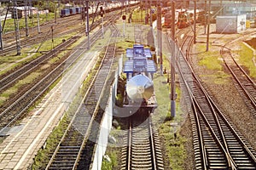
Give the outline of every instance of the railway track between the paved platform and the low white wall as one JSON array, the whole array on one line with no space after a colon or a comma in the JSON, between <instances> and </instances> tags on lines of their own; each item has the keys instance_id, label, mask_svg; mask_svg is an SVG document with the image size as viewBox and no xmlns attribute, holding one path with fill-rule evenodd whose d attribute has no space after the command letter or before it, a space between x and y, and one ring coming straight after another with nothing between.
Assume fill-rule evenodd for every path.
<instances>
[{"instance_id":1,"label":"railway track between the paved platform and the low white wall","mask_svg":"<svg viewBox=\"0 0 256 170\"><path fill-rule=\"evenodd\" d=\"M90 143L88 140L92 139L90 137L92 129L93 133L95 133L94 135L96 135L95 131L98 128L95 128L94 124L96 124L97 118L101 119L101 117L97 117L98 112L104 110L104 108L101 108L101 102L104 88L108 88L106 87L106 82L113 62L117 34L117 30L113 31L112 36L114 38L111 38L111 41L108 42L100 70L97 71L96 77L79 105L78 111L73 116L73 120L64 133L61 142L58 144L53 156L51 156L46 169L88 169L90 167L90 154L92 154L93 145L88 146L86 144ZM90 147L90 152L85 152L84 150L88 150L88 147ZM84 159L87 159L87 161L83 161Z\"/></svg>"}]
</instances>

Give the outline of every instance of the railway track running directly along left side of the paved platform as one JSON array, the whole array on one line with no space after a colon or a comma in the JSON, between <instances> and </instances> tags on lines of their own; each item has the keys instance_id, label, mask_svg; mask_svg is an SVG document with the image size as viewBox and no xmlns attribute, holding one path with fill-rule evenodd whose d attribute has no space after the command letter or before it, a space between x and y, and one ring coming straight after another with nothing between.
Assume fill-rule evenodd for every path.
<instances>
[{"instance_id":1,"label":"railway track running directly along left side of the paved platform","mask_svg":"<svg viewBox=\"0 0 256 170\"><path fill-rule=\"evenodd\" d=\"M116 20L117 16L119 15L115 15L112 20ZM101 36L102 31L96 31L96 33L91 37L90 44L96 42L96 40ZM61 77L61 75L67 71L69 66L73 65L73 63L79 59L79 56L86 50L80 50L84 47L84 44L87 44L87 40L80 43L78 49L76 49L68 58L55 64L54 67L51 67L51 70L48 71L38 82L35 82L35 84L31 84L31 86L22 89L23 93L20 92L20 95L17 94L15 98L9 101L9 103L3 105L0 112L0 133L3 133L4 130L8 129L8 127L14 124L18 118L22 117L26 110L33 105L33 103L42 94L44 94L47 89L49 89L49 86L53 84L59 77Z\"/></svg>"}]
</instances>

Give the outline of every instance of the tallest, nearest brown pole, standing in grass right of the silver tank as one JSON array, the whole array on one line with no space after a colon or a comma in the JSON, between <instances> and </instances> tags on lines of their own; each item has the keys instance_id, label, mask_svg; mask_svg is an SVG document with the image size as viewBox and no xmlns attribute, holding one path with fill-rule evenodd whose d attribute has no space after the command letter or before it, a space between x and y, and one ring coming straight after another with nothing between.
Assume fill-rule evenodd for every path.
<instances>
[{"instance_id":1,"label":"tallest, nearest brown pole, standing in grass right of the silver tank","mask_svg":"<svg viewBox=\"0 0 256 170\"><path fill-rule=\"evenodd\" d=\"M172 1L172 54L171 54L171 116L175 117L176 112L176 90L175 90L175 2Z\"/></svg>"}]
</instances>

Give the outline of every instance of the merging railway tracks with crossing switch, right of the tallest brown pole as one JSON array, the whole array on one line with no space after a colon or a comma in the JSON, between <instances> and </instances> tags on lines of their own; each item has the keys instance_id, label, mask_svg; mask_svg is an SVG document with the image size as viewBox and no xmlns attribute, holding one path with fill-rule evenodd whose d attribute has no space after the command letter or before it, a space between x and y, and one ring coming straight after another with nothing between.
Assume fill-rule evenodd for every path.
<instances>
[{"instance_id":1,"label":"merging railway tracks with crossing switch, right of the tallest brown pole","mask_svg":"<svg viewBox=\"0 0 256 170\"><path fill-rule=\"evenodd\" d=\"M255 169L255 150L218 109L183 55L177 68L181 86L189 94L187 102L191 104L195 168Z\"/></svg>"}]
</instances>

